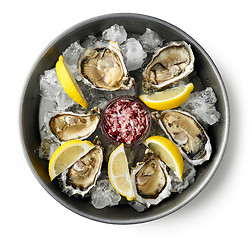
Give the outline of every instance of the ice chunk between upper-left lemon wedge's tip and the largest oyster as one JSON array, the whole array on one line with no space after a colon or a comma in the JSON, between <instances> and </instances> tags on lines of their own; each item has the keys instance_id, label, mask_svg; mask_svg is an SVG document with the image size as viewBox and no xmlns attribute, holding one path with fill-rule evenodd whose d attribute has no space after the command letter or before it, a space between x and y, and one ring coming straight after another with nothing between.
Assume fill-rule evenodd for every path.
<instances>
[{"instance_id":1,"label":"ice chunk between upper-left lemon wedge's tip and the largest oyster","mask_svg":"<svg viewBox=\"0 0 252 240\"><path fill-rule=\"evenodd\" d=\"M72 43L64 52L63 57L68 65L76 65L80 54L83 51L83 47L80 45L79 41Z\"/></svg>"}]
</instances>

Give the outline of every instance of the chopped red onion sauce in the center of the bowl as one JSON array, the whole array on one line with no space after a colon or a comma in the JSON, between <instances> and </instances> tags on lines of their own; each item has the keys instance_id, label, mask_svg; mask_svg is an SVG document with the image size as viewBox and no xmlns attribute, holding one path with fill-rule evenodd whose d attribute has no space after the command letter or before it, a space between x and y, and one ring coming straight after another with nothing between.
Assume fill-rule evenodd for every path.
<instances>
[{"instance_id":1,"label":"chopped red onion sauce in the center of the bowl","mask_svg":"<svg viewBox=\"0 0 252 240\"><path fill-rule=\"evenodd\" d=\"M148 125L147 112L134 100L119 99L105 110L104 127L117 142L134 143L144 134Z\"/></svg>"}]
</instances>

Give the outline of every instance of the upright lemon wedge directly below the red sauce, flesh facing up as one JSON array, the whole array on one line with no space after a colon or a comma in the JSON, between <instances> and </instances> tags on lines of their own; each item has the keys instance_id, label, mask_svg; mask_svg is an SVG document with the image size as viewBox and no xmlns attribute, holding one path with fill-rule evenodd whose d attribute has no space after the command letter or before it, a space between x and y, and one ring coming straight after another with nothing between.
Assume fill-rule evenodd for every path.
<instances>
[{"instance_id":1,"label":"upright lemon wedge directly below the red sauce, flesh facing up","mask_svg":"<svg viewBox=\"0 0 252 240\"><path fill-rule=\"evenodd\" d=\"M123 143L109 157L108 176L112 186L118 193L125 196L128 201L135 198Z\"/></svg>"}]
</instances>

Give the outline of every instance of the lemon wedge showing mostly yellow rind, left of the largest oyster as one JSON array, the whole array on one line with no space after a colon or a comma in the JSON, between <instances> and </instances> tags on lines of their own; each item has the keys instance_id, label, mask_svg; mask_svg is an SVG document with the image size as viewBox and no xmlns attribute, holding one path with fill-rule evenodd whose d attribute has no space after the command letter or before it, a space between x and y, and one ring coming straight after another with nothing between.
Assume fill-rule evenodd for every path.
<instances>
[{"instance_id":1,"label":"lemon wedge showing mostly yellow rind, left of the largest oyster","mask_svg":"<svg viewBox=\"0 0 252 240\"><path fill-rule=\"evenodd\" d=\"M74 78L73 73L71 72L67 63L64 61L62 55L59 56L59 60L56 63L56 73L61 86L68 94L68 96L75 102L79 103L82 107L87 108L88 103L86 102L84 95Z\"/></svg>"}]
</instances>

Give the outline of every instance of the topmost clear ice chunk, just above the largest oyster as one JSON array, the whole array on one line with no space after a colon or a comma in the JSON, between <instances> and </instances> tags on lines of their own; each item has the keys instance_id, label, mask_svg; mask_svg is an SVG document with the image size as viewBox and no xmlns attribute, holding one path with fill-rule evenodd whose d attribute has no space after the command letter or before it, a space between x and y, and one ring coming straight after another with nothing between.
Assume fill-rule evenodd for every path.
<instances>
[{"instance_id":1,"label":"topmost clear ice chunk, just above the largest oyster","mask_svg":"<svg viewBox=\"0 0 252 240\"><path fill-rule=\"evenodd\" d=\"M104 40L113 40L120 45L126 41L127 32L123 26L119 26L118 24L114 24L110 28L103 31L102 38Z\"/></svg>"}]
</instances>

